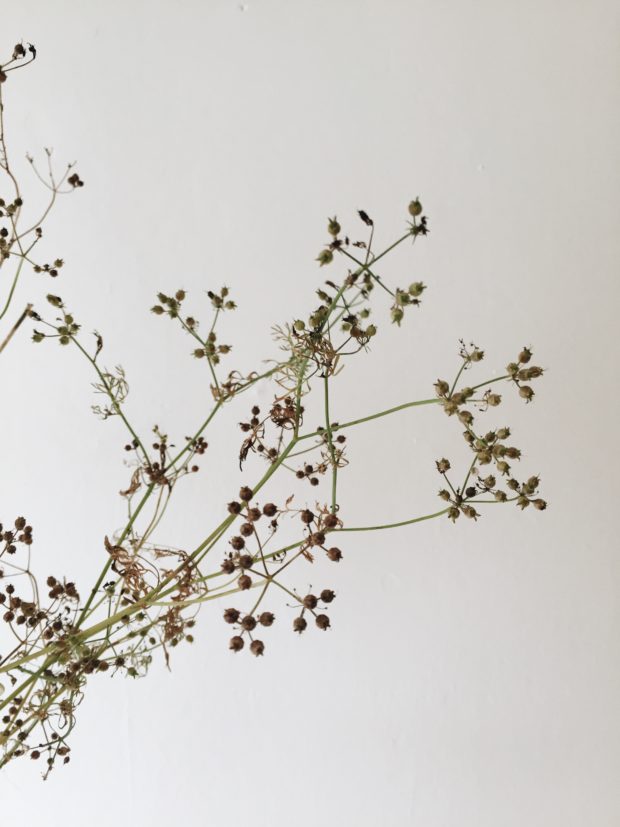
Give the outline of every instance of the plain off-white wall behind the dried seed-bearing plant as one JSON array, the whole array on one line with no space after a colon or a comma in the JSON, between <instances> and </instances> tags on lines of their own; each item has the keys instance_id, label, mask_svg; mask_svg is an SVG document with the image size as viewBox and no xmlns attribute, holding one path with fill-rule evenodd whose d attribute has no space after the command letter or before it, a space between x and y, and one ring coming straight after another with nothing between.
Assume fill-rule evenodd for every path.
<instances>
[{"instance_id":1,"label":"plain off-white wall behind the dried seed-bearing plant","mask_svg":"<svg viewBox=\"0 0 620 827\"><path fill-rule=\"evenodd\" d=\"M366 209L387 243L419 195L431 235L383 275L424 280L424 306L400 331L378 318L335 416L430 395L459 337L485 347L481 380L531 344L547 368L535 403L507 392L497 424L550 507L347 538L340 567L292 580L334 585L333 629L293 638L276 607L260 661L230 654L219 609L205 611L171 673L92 681L72 763L46 783L31 763L6 770L3 819L619 823L619 29L605 0L4 9L2 53L39 49L6 86L16 164L27 176L26 150L51 145L87 183L49 222L62 279L29 276L18 305L53 286L102 331L143 431L182 438L209 397L188 340L149 315L157 290L184 287L198 313L200 291L229 284L240 310L223 340L231 367L251 369L274 354L270 326L314 303L326 216L354 227ZM90 382L76 353L25 332L3 354L2 518L26 513L42 570L64 566L84 590L127 482L124 434L90 413ZM238 485L238 434L218 438L162 540L195 545ZM435 510L434 459L467 461L434 409L350 443L350 523Z\"/></svg>"}]
</instances>

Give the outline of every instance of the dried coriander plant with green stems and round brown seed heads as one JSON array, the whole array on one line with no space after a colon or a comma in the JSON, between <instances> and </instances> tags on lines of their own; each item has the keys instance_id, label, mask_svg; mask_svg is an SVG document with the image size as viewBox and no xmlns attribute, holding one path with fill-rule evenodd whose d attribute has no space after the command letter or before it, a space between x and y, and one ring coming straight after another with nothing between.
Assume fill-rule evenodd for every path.
<instances>
[{"instance_id":1,"label":"dried coriander plant with green stems and round brown seed heads","mask_svg":"<svg viewBox=\"0 0 620 827\"><path fill-rule=\"evenodd\" d=\"M82 186L71 164L62 176L55 175L49 151L45 175L29 158L49 200L38 218L25 220L5 144L2 93L11 73L35 57L33 46L18 44L0 66L0 276L9 272L0 322L8 318L24 269L58 276L61 258L38 258L42 225L60 194ZM508 385L526 403L532 401L531 382L543 370L532 365L529 348L523 348L502 375L485 380L484 373L478 375L484 352L461 342L456 375L452 381L439 379L430 398L404 401L351 422L335 419L330 388L342 366L363 356L378 335L379 325L371 321L373 304L382 304L379 314L400 325L412 308L420 306L426 290L422 282L393 288L377 271L396 247L428 233L420 201L409 204L404 231L379 252L373 246L373 220L364 211L359 217L365 237L356 241L343 233L336 218L328 221L319 266L344 267L317 290L318 304L306 318L274 328L281 356L268 363L267 370L244 373L223 368L231 346L220 341L219 323L236 309L228 288L208 291L209 317L202 324L186 310L183 289L157 294L152 312L168 317L191 338L193 357L204 363L213 394L210 412L180 448L157 427L148 439L137 432L124 409L128 384L123 369L103 366L102 336L84 336L60 296L47 296L46 312L26 305L13 325L7 325L0 350L31 319L34 342L56 341L89 362L98 397L93 411L102 419L116 418L125 429L131 474L121 492L127 502L126 525L101 538L100 570L85 591L55 570L43 582L37 580L31 566L33 529L24 516L11 517L0 526L0 766L26 756L43 762L46 776L59 761L67 763L69 736L89 677L99 672L140 677L158 654L168 663L172 649L193 642L203 603L221 601L233 652L263 655L264 638L276 622L299 634L311 627L328 629L334 591L326 587L304 594L291 580L317 555L339 563L341 547L350 542L348 534L439 518L476 520L494 503L546 507L538 496L538 477L522 481L515 476L521 452L510 442L510 429L482 424L484 415L502 402L496 390L500 385ZM208 451L205 434L210 424L227 414L238 417L243 404L237 403L238 397L258 383L270 383L273 401L265 410L251 407L240 423L235 461L247 470L247 484L222 503L220 521L195 548L162 544L157 539L159 522L179 481L198 471L198 458ZM311 393L322 398L320 424L309 425L304 418ZM450 461L441 458L436 466L442 503L436 511L393 524L349 525L338 504L340 472L352 461L347 432L421 405L437 406L462 429L471 453L458 470L460 476L455 478ZM269 498L268 484L275 474L291 480L291 494L284 502Z\"/></svg>"}]
</instances>

